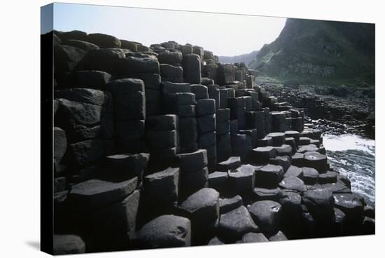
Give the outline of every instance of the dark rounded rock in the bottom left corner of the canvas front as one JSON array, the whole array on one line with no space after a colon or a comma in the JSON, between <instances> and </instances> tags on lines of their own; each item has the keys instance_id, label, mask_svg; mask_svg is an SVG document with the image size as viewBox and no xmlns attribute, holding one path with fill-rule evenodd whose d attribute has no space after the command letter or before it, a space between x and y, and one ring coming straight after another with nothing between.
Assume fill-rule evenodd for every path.
<instances>
[{"instance_id":1,"label":"dark rounded rock in the bottom left corner of the canvas front","mask_svg":"<svg viewBox=\"0 0 385 258\"><path fill-rule=\"evenodd\" d=\"M80 236L75 235L53 235L54 255L59 254L81 254L85 252L85 243Z\"/></svg>"}]
</instances>

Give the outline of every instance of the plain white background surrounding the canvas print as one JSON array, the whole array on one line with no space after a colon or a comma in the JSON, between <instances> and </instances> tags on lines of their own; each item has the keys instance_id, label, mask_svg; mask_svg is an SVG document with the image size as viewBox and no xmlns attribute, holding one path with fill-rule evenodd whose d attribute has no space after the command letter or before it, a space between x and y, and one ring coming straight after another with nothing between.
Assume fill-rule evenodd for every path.
<instances>
[{"instance_id":1,"label":"plain white background surrounding the canvas print","mask_svg":"<svg viewBox=\"0 0 385 258\"><path fill-rule=\"evenodd\" d=\"M71 2L71 1L62 1ZM384 6L381 1L137 0L76 1L188 11L345 20L376 23L376 236L293 240L284 243L186 247L156 251L110 252L76 257L367 257L384 248ZM40 238L40 6L49 1L1 3L0 257L48 257ZM161 21L160 21L161 22ZM253 33L253 26L250 33ZM236 28L234 28L236 29ZM382 32L382 35L381 35ZM188 32L183 32L188 33ZM172 39L170 39L172 40ZM381 46L382 42L382 46ZM382 47L382 49L380 48ZM49 90L49 89L46 89ZM380 133L381 132L381 133ZM47 171L50 173L51 171ZM382 182L382 183L381 183ZM382 239L382 241L381 241ZM381 256L384 254L380 254ZM73 256L75 257L75 256Z\"/></svg>"}]
</instances>

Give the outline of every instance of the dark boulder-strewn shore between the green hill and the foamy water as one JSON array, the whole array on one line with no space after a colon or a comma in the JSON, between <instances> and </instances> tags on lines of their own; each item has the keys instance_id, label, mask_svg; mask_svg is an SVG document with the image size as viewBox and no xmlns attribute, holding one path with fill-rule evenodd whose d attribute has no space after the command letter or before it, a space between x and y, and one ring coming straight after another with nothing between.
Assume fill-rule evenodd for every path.
<instances>
[{"instance_id":1,"label":"dark boulder-strewn shore between the green hill and the foamy water","mask_svg":"<svg viewBox=\"0 0 385 258\"><path fill-rule=\"evenodd\" d=\"M307 122L316 121L314 128L323 132L375 137L374 90L290 83L260 83L260 86L280 101L290 102L293 107L304 107Z\"/></svg>"}]
</instances>

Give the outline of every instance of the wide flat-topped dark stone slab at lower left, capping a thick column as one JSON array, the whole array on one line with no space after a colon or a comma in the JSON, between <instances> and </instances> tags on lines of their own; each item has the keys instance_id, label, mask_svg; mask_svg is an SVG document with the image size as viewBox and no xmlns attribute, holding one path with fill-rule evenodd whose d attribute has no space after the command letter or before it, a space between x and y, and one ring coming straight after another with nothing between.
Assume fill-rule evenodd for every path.
<instances>
[{"instance_id":1,"label":"wide flat-topped dark stone slab at lower left, capping a thick column","mask_svg":"<svg viewBox=\"0 0 385 258\"><path fill-rule=\"evenodd\" d=\"M123 182L90 179L72 186L69 201L74 207L97 208L129 196L137 188L137 177Z\"/></svg>"}]
</instances>

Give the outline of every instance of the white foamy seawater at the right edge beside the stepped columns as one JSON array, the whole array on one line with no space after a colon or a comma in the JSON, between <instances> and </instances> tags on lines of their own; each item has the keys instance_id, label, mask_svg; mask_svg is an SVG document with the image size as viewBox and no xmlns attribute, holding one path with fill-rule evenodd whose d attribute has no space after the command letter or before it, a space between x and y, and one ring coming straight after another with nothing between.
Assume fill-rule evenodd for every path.
<instances>
[{"instance_id":1,"label":"white foamy seawater at the right edge beside the stepped columns","mask_svg":"<svg viewBox=\"0 0 385 258\"><path fill-rule=\"evenodd\" d=\"M358 135L323 135L323 146L335 170L348 175L351 190L375 202L375 143Z\"/></svg>"}]
</instances>

